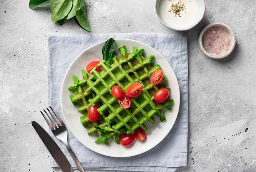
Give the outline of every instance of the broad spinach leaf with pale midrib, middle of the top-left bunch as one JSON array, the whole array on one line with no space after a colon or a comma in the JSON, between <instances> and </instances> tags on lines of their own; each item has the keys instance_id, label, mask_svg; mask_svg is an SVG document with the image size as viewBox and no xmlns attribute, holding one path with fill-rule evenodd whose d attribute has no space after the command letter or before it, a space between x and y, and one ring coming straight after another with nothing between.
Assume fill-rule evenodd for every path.
<instances>
[{"instance_id":1,"label":"broad spinach leaf with pale midrib, middle of the top-left bunch","mask_svg":"<svg viewBox=\"0 0 256 172\"><path fill-rule=\"evenodd\" d=\"M51 21L57 22L68 15L72 8L72 0L51 0Z\"/></svg>"}]
</instances>

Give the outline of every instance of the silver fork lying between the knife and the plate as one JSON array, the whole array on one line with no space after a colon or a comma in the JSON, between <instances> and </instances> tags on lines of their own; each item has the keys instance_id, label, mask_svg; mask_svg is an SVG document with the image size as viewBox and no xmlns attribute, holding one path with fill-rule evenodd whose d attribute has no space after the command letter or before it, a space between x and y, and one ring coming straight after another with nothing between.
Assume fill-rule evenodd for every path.
<instances>
[{"instance_id":1,"label":"silver fork lying between the knife and the plate","mask_svg":"<svg viewBox=\"0 0 256 172\"><path fill-rule=\"evenodd\" d=\"M48 112L45 111L45 109L43 111L48 116L50 121L47 119L47 117L45 116L45 114L42 111L40 111L40 112L42 113L43 117L45 118L45 121L47 122L50 129L52 130L52 133L55 135L55 137L57 139L61 140L65 144L65 146L67 147L67 150L70 152L71 157L74 159L74 162L76 163L76 166L79 169L79 171L85 172L81 163L78 161L78 159L76 158L76 155L71 150L71 148L67 142L68 133L67 133L67 128L66 128L65 124L63 123L63 121L61 120L59 115L56 113L56 111L54 111L54 109L52 109L52 107L50 107L50 109L52 110L53 113L48 108L46 108L46 109Z\"/></svg>"}]
</instances>

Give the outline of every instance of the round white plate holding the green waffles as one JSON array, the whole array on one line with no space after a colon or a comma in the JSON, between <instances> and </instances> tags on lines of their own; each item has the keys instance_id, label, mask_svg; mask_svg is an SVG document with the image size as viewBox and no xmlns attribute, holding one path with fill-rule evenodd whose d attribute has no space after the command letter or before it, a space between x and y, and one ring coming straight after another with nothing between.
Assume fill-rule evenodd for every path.
<instances>
[{"instance_id":1,"label":"round white plate holding the green waffles","mask_svg":"<svg viewBox=\"0 0 256 172\"><path fill-rule=\"evenodd\" d=\"M84 146L90 150L93 150L94 152L98 152L99 154L109 157L131 157L144 153L155 147L171 131L180 108L180 89L173 69L164 59L164 57L155 49L146 44L130 39L115 39L115 41L116 53L119 52L118 47L121 45L125 45L128 52L132 52L132 46L136 46L138 49L144 48L144 57L149 57L151 54L153 54L155 56L153 63L159 64L162 67L164 74L168 78L168 83L166 83L165 87L171 88L169 98L174 100L174 103L172 104L172 111L164 109L166 122L160 122L159 118L157 117L154 118L156 123L155 125L152 125L150 122L146 122L145 124L148 128L146 139L143 142L135 140L134 144L128 147L124 147L121 144L116 144L112 139L110 139L109 145L105 145L104 143L95 144L95 141L98 139L98 135L93 134L89 136L87 134L88 128L84 128L80 123L80 116L82 114L77 111L78 107L72 105L69 98L69 95L74 93L73 91L69 91L67 88L73 84L72 74L81 79L81 69L85 69L86 65L91 61L102 60L101 50L105 41L95 44L83 51L78 57L76 57L68 68L61 87L61 109L68 128L70 128L73 135Z\"/></svg>"}]
</instances>

